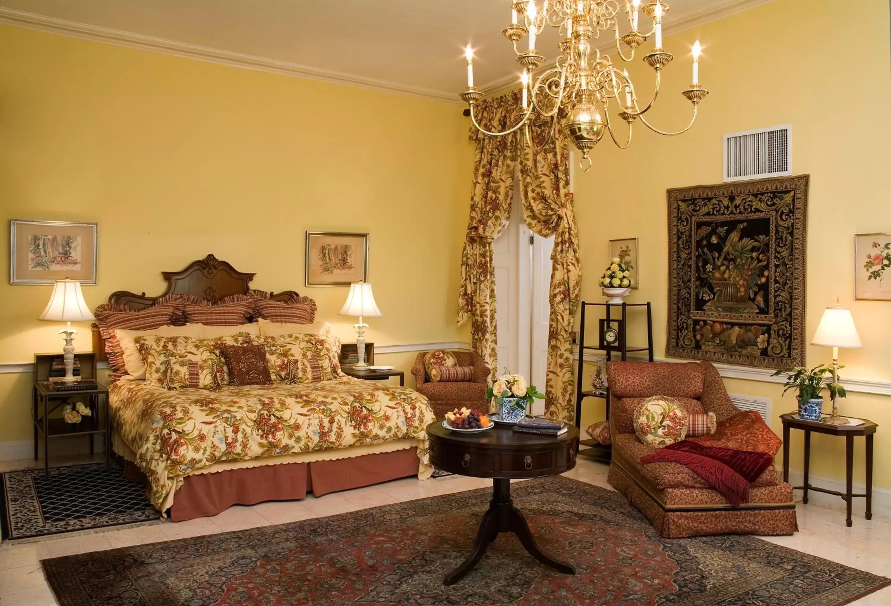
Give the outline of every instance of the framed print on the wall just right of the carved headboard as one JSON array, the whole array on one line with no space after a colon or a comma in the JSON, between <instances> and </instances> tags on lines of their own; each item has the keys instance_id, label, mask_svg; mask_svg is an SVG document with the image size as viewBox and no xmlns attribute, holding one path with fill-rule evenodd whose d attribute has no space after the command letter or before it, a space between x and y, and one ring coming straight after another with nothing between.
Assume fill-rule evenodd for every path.
<instances>
[{"instance_id":1,"label":"framed print on the wall just right of the carved headboard","mask_svg":"<svg viewBox=\"0 0 891 606\"><path fill-rule=\"evenodd\" d=\"M307 287L368 281L368 234L307 231Z\"/></svg>"}]
</instances>

